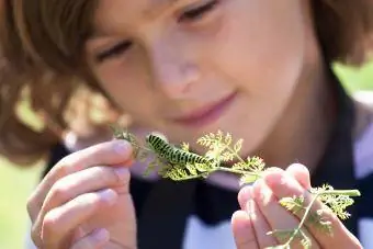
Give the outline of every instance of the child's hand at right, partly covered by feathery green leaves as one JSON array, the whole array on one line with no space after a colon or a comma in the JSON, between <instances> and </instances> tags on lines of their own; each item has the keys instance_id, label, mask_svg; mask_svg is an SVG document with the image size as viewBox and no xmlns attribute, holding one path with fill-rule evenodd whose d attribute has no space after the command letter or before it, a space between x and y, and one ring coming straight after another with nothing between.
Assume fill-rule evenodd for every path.
<instances>
[{"instance_id":1,"label":"child's hand at right, partly covered by feathery green leaves","mask_svg":"<svg viewBox=\"0 0 373 249\"><path fill-rule=\"evenodd\" d=\"M310 189L309 172L302 165L292 165L286 171L271 168L252 186L242 188L238 194L241 210L235 212L231 219L237 248L265 248L285 242L267 233L294 229L302 217L286 211L278 201L294 195L304 195L305 200L309 201L312 196L307 189ZM313 211L321 208L321 205L320 202L315 202ZM306 223L304 228L312 240L312 248L362 248L335 214L325 212L323 215L331 222L334 236L324 234ZM291 246L302 248L298 245L299 240L294 240Z\"/></svg>"}]
</instances>

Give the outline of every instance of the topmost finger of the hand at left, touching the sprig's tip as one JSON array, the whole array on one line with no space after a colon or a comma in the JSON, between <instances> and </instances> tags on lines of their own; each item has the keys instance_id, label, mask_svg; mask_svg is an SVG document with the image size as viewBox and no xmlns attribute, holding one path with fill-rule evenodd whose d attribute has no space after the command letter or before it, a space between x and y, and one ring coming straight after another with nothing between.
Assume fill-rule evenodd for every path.
<instances>
[{"instance_id":1,"label":"topmost finger of the hand at left, touching the sprig's tip","mask_svg":"<svg viewBox=\"0 0 373 249\"><path fill-rule=\"evenodd\" d=\"M125 140L112 140L79 150L61 159L45 176L27 200L27 212L32 222L35 220L45 196L58 179L92 166L129 165L132 161L132 151L129 143Z\"/></svg>"}]
</instances>

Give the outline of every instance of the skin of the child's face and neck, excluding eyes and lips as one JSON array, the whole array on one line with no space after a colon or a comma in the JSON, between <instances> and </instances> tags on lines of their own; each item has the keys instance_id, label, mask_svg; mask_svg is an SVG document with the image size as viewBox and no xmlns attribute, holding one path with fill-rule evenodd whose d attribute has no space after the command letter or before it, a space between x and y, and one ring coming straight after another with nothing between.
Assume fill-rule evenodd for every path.
<instances>
[{"instance_id":1,"label":"skin of the child's face and neck, excluding eyes and lips","mask_svg":"<svg viewBox=\"0 0 373 249\"><path fill-rule=\"evenodd\" d=\"M147 2L101 1L97 36L87 43L91 68L118 106L170 140L194 144L221 128L245 139L244 154L260 151L271 165L285 167L294 158L313 163L318 152L303 152L313 142L299 143L313 139L304 131L326 133L326 124L308 121L324 118L317 105L327 98L304 1L223 0L200 19L183 13L211 1L179 1L151 14ZM125 41L129 48L97 63L99 54ZM203 127L173 122L236 90L237 100L216 122ZM302 99L293 98L297 94ZM324 142L317 145L323 149Z\"/></svg>"}]
</instances>

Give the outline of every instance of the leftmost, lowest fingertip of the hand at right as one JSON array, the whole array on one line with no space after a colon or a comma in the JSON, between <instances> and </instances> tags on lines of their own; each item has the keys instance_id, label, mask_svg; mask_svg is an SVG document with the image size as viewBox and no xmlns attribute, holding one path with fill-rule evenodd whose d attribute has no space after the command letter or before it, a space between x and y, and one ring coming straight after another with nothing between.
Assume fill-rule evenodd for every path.
<instances>
[{"instance_id":1,"label":"leftmost, lowest fingertip of the hand at right","mask_svg":"<svg viewBox=\"0 0 373 249\"><path fill-rule=\"evenodd\" d=\"M231 216L231 228L237 249L259 249L256 231L250 216L245 211L237 211Z\"/></svg>"}]
</instances>

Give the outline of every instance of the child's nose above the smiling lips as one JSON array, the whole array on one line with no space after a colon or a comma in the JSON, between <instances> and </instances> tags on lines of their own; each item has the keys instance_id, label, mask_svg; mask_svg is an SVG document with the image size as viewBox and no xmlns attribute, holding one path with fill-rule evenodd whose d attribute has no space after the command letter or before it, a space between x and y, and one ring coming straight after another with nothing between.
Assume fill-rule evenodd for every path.
<instances>
[{"instance_id":1,"label":"child's nose above the smiling lips","mask_svg":"<svg viewBox=\"0 0 373 249\"><path fill-rule=\"evenodd\" d=\"M185 50L165 42L158 42L150 48L152 82L171 99L185 98L200 78L196 63Z\"/></svg>"}]
</instances>

